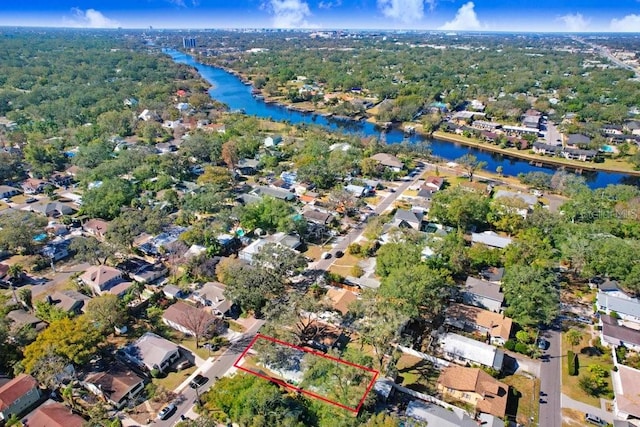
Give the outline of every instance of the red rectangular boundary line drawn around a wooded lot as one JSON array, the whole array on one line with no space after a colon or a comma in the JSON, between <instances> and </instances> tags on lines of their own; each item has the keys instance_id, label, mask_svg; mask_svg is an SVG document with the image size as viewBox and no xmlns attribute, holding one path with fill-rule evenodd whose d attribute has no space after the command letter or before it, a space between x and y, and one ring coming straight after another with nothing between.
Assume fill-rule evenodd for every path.
<instances>
[{"instance_id":1,"label":"red rectangular boundary line drawn around a wooded lot","mask_svg":"<svg viewBox=\"0 0 640 427\"><path fill-rule=\"evenodd\" d=\"M242 359L244 359L244 357L246 356L247 352L249 352L249 350L251 349L251 347L253 347L253 345L254 345L254 344L256 343L256 341L258 341L259 339L265 339L265 340L267 340L267 341L271 341L271 342L274 342L274 343L276 343L276 344L280 344L280 345L283 345L283 346L286 346L286 347L294 348L294 349L296 349L296 350L300 350L300 351L303 351L303 352L305 352L305 353L311 353L311 354L313 354L313 355L315 355L315 356L319 356L319 357L323 357L323 358L325 358L325 359L333 360L333 361L335 361L335 362L339 362L339 363L345 364L345 365L347 365L347 366L351 366L351 367L354 367L354 368L362 369L363 371L367 371L367 372L369 372L369 373L372 373L372 374L373 374L373 378L371 379L371 382L370 382L370 383L369 383L369 385L367 386L367 390L365 391L364 396L362 396L362 399L360 399L360 401L358 402L358 405L357 405L355 408L354 408L354 407L351 407L351 406L343 405L343 404L342 404L342 403L340 403L340 402L335 402L335 401L333 401L333 400L331 400L331 399L328 399L328 398L326 398L326 397L324 397L324 396L321 396L321 395L319 395L319 394L317 394L317 393L314 393L314 392L312 392L312 391L309 391L309 390L303 390L303 389L301 389L300 387L296 387L296 386L294 386L294 385L292 385L292 384L289 384L289 383L287 383L287 382L285 382L285 381L279 380L279 379L277 379L277 378L271 378L271 377L270 377L270 376L268 376L268 375L264 375L264 374L261 374L261 373L259 373L259 372L255 372L255 371L252 371L251 369L247 369L247 368L245 368L245 367L243 367L243 366L240 366L240 361L241 361ZM240 369L241 371L244 371L244 372L248 373L248 374L251 374L251 375L254 375L254 376L256 376L256 377L259 377L259 378L265 379L265 380L267 380L267 381L271 381L271 382L273 382L273 383L275 383L275 384L278 384L278 385L280 385L280 386L282 386L282 387L285 387L285 388L288 388L288 389L294 390L294 391L296 391L296 392L298 392L298 393L306 394L307 396L313 397L313 398L315 398L315 399L321 400L321 401L323 401L323 402L329 403L329 404L334 405L334 406L337 406L337 407L339 407L339 408L346 409L347 411L351 411L351 412L354 412L354 413L356 413L356 414L357 414L358 412L360 412L360 408L362 407L362 405L363 405L363 403L364 403L364 400L366 399L367 395L369 394L369 392L370 392L370 391L371 391L371 389L373 388L373 385L375 384L376 379L378 379L378 375L380 375L380 373L379 373L378 371L376 371L376 370L374 370L374 369L371 369L371 368L367 368L366 366L358 365L358 364L356 364L356 363L347 362L346 360L338 359L337 357L329 356L329 355L327 355L327 354L320 353L320 352L315 351L315 350L306 349L306 348L304 348L304 347L300 347L300 346L297 346L297 345L293 345L293 344L288 343L288 342L286 342L286 341L281 341L281 340L278 340L278 339L276 339L276 338L269 337L269 336L267 336L267 335L262 335L262 334L257 334L257 335L253 338L253 340L251 340L251 342L249 343L249 345L247 346L247 348L245 348L245 349L244 349L244 351L242 352L242 354L240 355L240 357L238 357L238 360L236 360L236 361L235 361L235 363L233 364L233 366L234 366L235 368L237 368L237 369Z\"/></svg>"}]
</instances>

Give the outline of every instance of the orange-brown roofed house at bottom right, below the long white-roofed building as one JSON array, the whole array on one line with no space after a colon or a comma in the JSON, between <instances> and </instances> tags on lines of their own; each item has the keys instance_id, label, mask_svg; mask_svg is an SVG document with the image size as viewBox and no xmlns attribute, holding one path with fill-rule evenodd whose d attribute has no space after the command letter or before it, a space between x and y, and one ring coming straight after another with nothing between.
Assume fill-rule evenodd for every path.
<instances>
[{"instance_id":1,"label":"orange-brown roofed house at bottom right, below the long white-roofed building","mask_svg":"<svg viewBox=\"0 0 640 427\"><path fill-rule=\"evenodd\" d=\"M440 374L437 388L443 396L468 403L478 412L505 416L509 386L480 368L449 366Z\"/></svg>"}]
</instances>

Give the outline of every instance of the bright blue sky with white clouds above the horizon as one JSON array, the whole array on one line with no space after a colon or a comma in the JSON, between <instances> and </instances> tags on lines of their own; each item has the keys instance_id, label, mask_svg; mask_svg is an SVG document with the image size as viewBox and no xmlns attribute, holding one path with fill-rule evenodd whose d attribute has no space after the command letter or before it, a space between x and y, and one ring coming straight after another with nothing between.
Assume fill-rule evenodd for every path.
<instances>
[{"instance_id":1,"label":"bright blue sky with white clouds above the horizon","mask_svg":"<svg viewBox=\"0 0 640 427\"><path fill-rule=\"evenodd\" d=\"M640 32L640 0L2 0L0 25Z\"/></svg>"}]
</instances>

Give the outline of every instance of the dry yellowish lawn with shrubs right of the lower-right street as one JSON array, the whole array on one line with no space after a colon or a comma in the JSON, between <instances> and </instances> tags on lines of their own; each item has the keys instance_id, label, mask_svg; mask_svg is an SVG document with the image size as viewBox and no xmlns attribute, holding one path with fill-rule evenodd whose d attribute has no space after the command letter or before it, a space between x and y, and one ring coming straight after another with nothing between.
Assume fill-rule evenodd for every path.
<instances>
[{"instance_id":1,"label":"dry yellowish lawn with shrubs right of the lower-right street","mask_svg":"<svg viewBox=\"0 0 640 427\"><path fill-rule=\"evenodd\" d=\"M578 385L578 381L581 376L589 373L588 369L590 365L601 365L607 372L611 372L611 369L613 369L613 360L608 349L604 354L600 354L599 351L591 345L591 334L586 330L583 332L582 342L573 349L574 353L578 355L579 371L577 376L569 375L567 358L562 358L562 392L574 400L600 407L600 397L593 397L586 394ZM567 342L566 336L563 333L562 351L565 356L568 350L571 350L571 345ZM607 378L607 387L609 390L613 390L611 375ZM602 397L607 398L606 395Z\"/></svg>"}]
</instances>

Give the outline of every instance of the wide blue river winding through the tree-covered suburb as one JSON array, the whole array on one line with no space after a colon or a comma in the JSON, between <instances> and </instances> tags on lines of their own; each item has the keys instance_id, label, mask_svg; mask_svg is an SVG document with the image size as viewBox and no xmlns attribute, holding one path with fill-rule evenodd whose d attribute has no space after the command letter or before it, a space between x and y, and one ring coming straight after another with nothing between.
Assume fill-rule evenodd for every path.
<instances>
[{"instance_id":1,"label":"wide blue river winding through the tree-covered suburb","mask_svg":"<svg viewBox=\"0 0 640 427\"><path fill-rule=\"evenodd\" d=\"M163 52L178 63L196 67L200 75L213 86L209 90L211 97L227 104L231 110L243 110L249 115L274 121L288 121L291 124L306 123L309 125L321 125L332 130L340 130L342 132L355 133L363 136L379 137L381 134L380 128L364 120L354 121L327 118L313 113L292 111L275 104L267 104L262 99L253 97L251 95L251 86L245 85L235 75L221 68L197 62L192 56L175 49L163 49ZM384 138L387 143L398 143L406 139L404 133L398 129L385 131ZM468 147L454 142L425 138L421 135L412 135L409 137L409 140L411 142L427 141L434 155L447 160L455 160L469 153L473 154L479 160L487 163L486 169L488 171L495 172L498 166L502 166L503 174L509 176L517 176L520 173L534 171L555 172L554 168L533 166L529 164L528 160L483 151L475 147ZM583 176L591 188L606 187L609 184L640 184L638 177L623 173L585 171Z\"/></svg>"}]
</instances>

